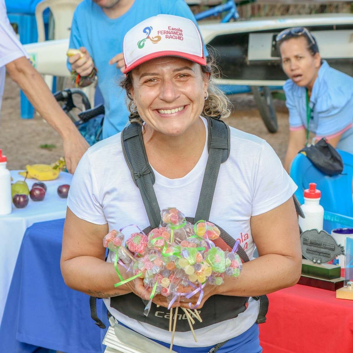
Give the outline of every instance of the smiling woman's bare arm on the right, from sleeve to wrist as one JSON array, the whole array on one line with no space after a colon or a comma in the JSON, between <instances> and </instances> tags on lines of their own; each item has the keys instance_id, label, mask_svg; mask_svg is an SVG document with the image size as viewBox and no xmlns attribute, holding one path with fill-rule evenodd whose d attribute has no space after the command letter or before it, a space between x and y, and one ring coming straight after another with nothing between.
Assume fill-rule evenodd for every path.
<instances>
[{"instance_id":1,"label":"smiling woman's bare arm on the right, from sleeve to wrist","mask_svg":"<svg viewBox=\"0 0 353 353\"><path fill-rule=\"evenodd\" d=\"M256 296L293 286L301 273L301 250L293 199L253 216L251 233L259 257L243 264L239 277L227 277L223 295Z\"/></svg>"}]
</instances>

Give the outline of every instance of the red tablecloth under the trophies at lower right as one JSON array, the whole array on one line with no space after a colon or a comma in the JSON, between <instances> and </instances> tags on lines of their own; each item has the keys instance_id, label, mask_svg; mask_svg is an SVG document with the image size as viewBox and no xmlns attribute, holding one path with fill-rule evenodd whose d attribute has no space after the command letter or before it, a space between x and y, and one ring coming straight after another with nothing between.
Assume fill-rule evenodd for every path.
<instances>
[{"instance_id":1,"label":"red tablecloth under the trophies at lower right","mask_svg":"<svg viewBox=\"0 0 353 353\"><path fill-rule=\"evenodd\" d=\"M353 300L295 285L268 295L263 353L353 353Z\"/></svg>"}]
</instances>

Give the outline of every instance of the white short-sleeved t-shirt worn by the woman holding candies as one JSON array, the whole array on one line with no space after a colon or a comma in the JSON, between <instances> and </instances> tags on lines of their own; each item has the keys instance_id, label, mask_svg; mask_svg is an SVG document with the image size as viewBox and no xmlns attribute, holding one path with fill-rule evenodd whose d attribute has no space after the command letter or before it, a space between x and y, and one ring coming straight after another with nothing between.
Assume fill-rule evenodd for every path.
<instances>
[{"instance_id":1,"label":"white short-sleeved t-shirt worn by the woman holding candies","mask_svg":"<svg viewBox=\"0 0 353 353\"><path fill-rule=\"evenodd\" d=\"M206 127L207 121L202 120ZM281 205L292 197L297 186L265 140L232 127L230 131L230 155L221 164L210 221L239 239L252 259L254 243L250 217ZM160 209L176 207L185 216L195 215L207 157L206 138L199 161L185 177L168 179L154 170L154 190ZM72 179L67 206L80 219L95 224L108 223L109 231L129 224L141 229L149 226L139 189L124 159L120 133L95 144L84 154ZM125 234L125 239L128 235ZM110 299L103 300L118 321L147 337L170 343L168 331L122 315L110 307ZM250 299L248 308L237 318L195 330L197 343L191 332L176 332L174 344L206 347L223 342L249 329L258 311L258 302Z\"/></svg>"}]
</instances>

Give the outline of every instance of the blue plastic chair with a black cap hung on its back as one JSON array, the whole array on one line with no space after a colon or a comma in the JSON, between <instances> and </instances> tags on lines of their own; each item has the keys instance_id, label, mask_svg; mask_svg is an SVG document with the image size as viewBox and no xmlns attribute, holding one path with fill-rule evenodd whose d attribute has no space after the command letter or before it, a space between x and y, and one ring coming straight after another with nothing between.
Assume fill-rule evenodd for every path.
<instances>
[{"instance_id":1,"label":"blue plastic chair with a black cap hung on its back","mask_svg":"<svg viewBox=\"0 0 353 353\"><path fill-rule=\"evenodd\" d=\"M316 183L321 191L320 204L325 210L324 229L331 232L334 228L353 228L353 155L337 150L343 160L343 172L330 177L321 173L313 166L309 158L299 153L291 166L291 178L297 184L295 196L300 204L304 203L304 190L309 188L309 183Z\"/></svg>"}]
</instances>

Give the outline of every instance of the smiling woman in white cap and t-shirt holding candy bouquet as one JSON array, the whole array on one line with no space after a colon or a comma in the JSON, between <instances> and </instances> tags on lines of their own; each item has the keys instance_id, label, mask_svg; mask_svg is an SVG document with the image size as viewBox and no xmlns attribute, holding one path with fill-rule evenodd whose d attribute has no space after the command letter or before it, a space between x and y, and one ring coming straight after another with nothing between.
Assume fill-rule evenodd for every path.
<instances>
[{"instance_id":1,"label":"smiling woman in white cap and t-shirt holding candy bouquet","mask_svg":"<svg viewBox=\"0 0 353 353\"><path fill-rule=\"evenodd\" d=\"M183 40L162 34L169 27ZM138 40L142 34L147 36ZM136 25L124 38L124 60L121 85L131 125L92 146L74 174L61 256L65 282L104 298L105 322L108 310L119 323L168 346L167 298L152 296L145 317L140 299L150 298L149 289L139 277L114 287L117 274L110 256L104 262L103 238L129 224L158 227L158 211L168 207L198 217L201 205L208 211L199 219L218 224L233 243L240 238L245 261L252 260L255 244L260 256L245 262L238 277L225 276L220 286L205 283L203 295L173 304L197 306L203 320L195 325L195 342L180 315L173 349L207 353L226 342L227 352L260 353L258 323L266 310L259 310L257 297L292 286L300 276L296 186L264 140L220 121L229 115L229 102L213 84L214 70L190 20L158 15ZM145 164L130 170L131 160ZM151 208L157 209L152 216Z\"/></svg>"}]
</instances>

